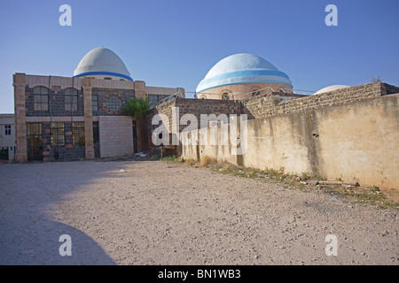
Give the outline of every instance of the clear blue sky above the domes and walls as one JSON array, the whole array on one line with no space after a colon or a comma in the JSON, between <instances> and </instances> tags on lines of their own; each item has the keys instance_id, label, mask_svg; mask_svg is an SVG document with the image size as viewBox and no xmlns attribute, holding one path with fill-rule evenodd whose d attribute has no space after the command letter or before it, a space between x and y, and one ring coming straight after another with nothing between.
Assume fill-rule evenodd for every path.
<instances>
[{"instance_id":1,"label":"clear blue sky above the domes and walls","mask_svg":"<svg viewBox=\"0 0 399 283\"><path fill-rule=\"evenodd\" d=\"M59 6L72 27L59 26ZM325 25L325 6L338 27ZM380 76L399 86L398 0L3 1L0 113L12 113L12 74L72 76L104 46L133 80L194 91L223 57L247 52L288 74L293 88L359 85Z\"/></svg>"}]
</instances>

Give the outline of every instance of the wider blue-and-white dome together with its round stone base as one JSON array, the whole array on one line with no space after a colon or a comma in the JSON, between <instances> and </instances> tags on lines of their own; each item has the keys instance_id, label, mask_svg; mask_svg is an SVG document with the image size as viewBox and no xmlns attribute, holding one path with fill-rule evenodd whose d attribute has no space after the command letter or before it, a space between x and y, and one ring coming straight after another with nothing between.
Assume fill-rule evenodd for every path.
<instances>
[{"instance_id":1,"label":"wider blue-and-white dome together with its round stone base","mask_svg":"<svg viewBox=\"0 0 399 283\"><path fill-rule=\"evenodd\" d=\"M239 53L209 70L196 89L196 98L243 100L271 92L293 94L288 75L262 57Z\"/></svg>"}]
</instances>

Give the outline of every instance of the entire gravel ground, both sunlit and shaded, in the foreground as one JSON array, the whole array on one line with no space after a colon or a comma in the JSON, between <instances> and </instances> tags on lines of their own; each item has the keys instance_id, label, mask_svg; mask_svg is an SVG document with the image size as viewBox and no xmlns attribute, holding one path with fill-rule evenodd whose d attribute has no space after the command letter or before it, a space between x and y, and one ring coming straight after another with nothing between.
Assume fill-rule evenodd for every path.
<instances>
[{"instance_id":1,"label":"entire gravel ground, both sunlit and shaded, in the foreground","mask_svg":"<svg viewBox=\"0 0 399 283\"><path fill-rule=\"evenodd\" d=\"M0 194L0 264L399 263L397 210L184 164L0 164Z\"/></svg>"}]
</instances>

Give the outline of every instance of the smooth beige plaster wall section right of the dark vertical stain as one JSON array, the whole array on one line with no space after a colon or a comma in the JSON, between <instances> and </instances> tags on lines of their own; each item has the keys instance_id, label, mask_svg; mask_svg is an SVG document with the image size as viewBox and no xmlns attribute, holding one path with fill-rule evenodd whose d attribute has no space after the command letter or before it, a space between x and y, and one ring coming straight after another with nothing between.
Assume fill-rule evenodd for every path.
<instances>
[{"instance_id":1,"label":"smooth beige plaster wall section right of the dark vertical stain","mask_svg":"<svg viewBox=\"0 0 399 283\"><path fill-rule=\"evenodd\" d=\"M316 112L319 171L399 189L399 94Z\"/></svg>"}]
</instances>

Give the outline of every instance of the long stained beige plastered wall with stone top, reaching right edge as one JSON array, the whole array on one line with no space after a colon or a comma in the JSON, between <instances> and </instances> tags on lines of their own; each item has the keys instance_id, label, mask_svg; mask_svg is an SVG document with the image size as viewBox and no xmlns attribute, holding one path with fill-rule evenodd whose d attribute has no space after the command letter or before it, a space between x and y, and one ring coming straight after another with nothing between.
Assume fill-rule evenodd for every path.
<instances>
[{"instance_id":1,"label":"long stained beige plastered wall with stone top, reaching right edge","mask_svg":"<svg viewBox=\"0 0 399 283\"><path fill-rule=\"evenodd\" d=\"M245 154L231 156L231 146L222 145L219 135L216 145L183 144L182 157L207 156L259 169L284 167L286 172L399 189L399 93L395 92L399 88L373 83L274 106L265 102L263 114L249 105L243 111L264 117L247 121L247 134L240 137L246 142ZM200 131L191 134L200 141ZM187 133L180 138L187 139Z\"/></svg>"}]
</instances>

